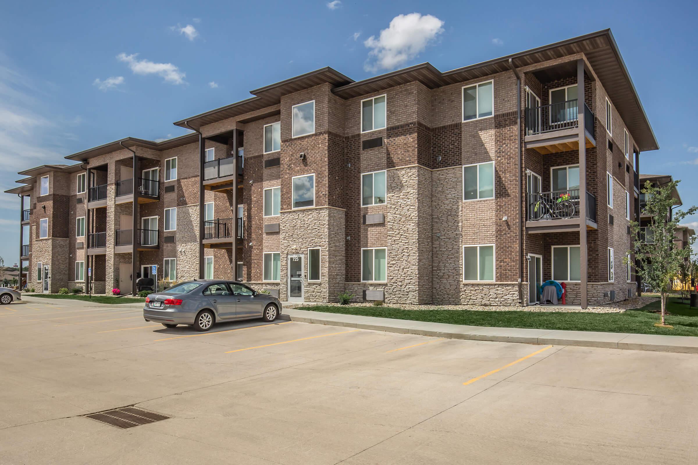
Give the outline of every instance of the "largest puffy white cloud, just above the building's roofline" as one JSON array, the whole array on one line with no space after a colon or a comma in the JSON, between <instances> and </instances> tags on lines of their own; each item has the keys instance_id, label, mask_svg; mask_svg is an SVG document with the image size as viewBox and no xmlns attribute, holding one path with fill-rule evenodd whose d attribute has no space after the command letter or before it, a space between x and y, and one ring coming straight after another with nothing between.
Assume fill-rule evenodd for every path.
<instances>
[{"instance_id":1,"label":"largest puffy white cloud, just above the building's roofline","mask_svg":"<svg viewBox=\"0 0 698 465\"><path fill-rule=\"evenodd\" d=\"M378 39L371 36L364 40L364 45L371 49L364 70L392 70L415 58L443 32L443 24L443 21L432 15L397 15L387 29L380 31Z\"/></svg>"}]
</instances>

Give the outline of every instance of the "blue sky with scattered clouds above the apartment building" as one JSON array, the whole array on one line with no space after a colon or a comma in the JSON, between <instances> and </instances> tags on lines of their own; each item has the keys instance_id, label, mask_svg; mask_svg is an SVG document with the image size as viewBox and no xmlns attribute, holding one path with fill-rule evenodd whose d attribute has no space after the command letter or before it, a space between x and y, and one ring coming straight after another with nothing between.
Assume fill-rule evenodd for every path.
<instances>
[{"instance_id":1,"label":"blue sky with scattered clouds above the apartment building","mask_svg":"<svg viewBox=\"0 0 698 465\"><path fill-rule=\"evenodd\" d=\"M661 147L641 155L641 171L683 179L683 201L697 203L695 1L584 6L4 1L0 188L14 187L20 169L114 139L184 134L172 121L323 66L356 80L424 61L450 70L610 27ZM396 18L410 13L419 16ZM11 265L19 205L16 196L1 196L0 256Z\"/></svg>"}]
</instances>

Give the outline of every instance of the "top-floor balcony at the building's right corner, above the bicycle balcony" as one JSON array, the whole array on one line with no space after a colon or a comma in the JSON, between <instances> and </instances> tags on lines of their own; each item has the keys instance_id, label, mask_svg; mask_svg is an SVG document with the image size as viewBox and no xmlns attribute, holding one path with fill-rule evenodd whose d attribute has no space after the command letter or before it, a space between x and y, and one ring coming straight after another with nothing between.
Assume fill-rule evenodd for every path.
<instances>
[{"instance_id":1,"label":"top-floor balcony at the building's right corner, above the bicycle balcony","mask_svg":"<svg viewBox=\"0 0 698 465\"><path fill-rule=\"evenodd\" d=\"M558 153L579 150L579 118L577 99L526 109L526 148L538 153ZM584 104L584 134L586 148L596 146L594 114Z\"/></svg>"}]
</instances>

